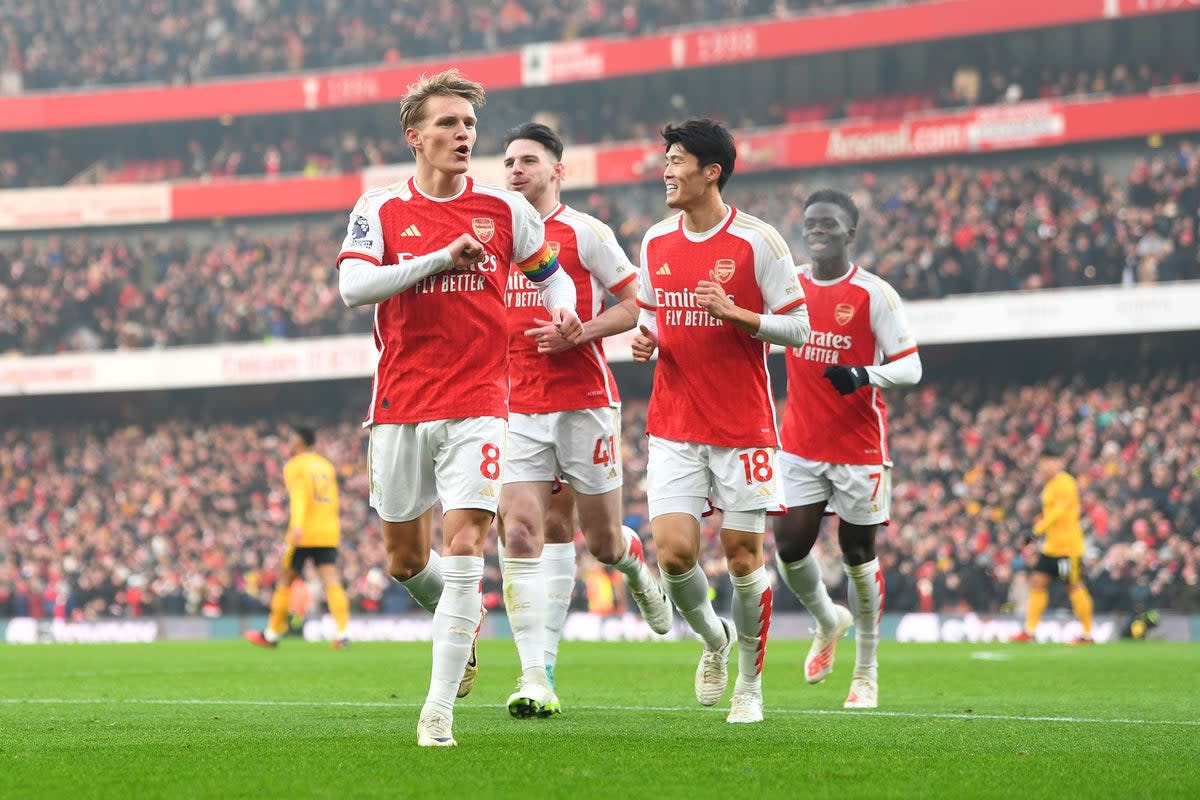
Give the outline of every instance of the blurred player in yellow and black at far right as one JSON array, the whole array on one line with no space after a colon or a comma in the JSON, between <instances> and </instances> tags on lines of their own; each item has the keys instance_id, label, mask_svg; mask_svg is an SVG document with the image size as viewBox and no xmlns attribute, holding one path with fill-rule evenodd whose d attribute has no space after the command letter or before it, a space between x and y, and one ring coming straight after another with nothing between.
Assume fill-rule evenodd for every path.
<instances>
[{"instance_id":1,"label":"blurred player in yellow and black at far right","mask_svg":"<svg viewBox=\"0 0 1200 800\"><path fill-rule=\"evenodd\" d=\"M1070 607L1084 626L1084 634L1075 644L1092 644L1092 595L1084 585L1084 529L1079 523L1079 486L1067 471L1066 451L1055 443L1046 444L1038 458L1038 480L1042 489L1042 516L1033 527L1033 536L1042 537L1038 561L1030 581L1030 601L1025 610L1025 630L1014 642L1032 642L1050 603L1050 582L1055 578L1067 584Z\"/></svg>"}]
</instances>

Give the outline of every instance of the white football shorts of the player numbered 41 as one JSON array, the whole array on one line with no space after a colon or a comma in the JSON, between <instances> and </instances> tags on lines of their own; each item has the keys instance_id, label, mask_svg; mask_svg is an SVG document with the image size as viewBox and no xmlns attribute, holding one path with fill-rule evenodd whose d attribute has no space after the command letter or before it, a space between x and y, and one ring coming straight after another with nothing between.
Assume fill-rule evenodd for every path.
<instances>
[{"instance_id":1,"label":"white football shorts of the player numbered 41","mask_svg":"<svg viewBox=\"0 0 1200 800\"><path fill-rule=\"evenodd\" d=\"M510 414L504 482L553 481L580 494L620 488L620 407Z\"/></svg>"}]
</instances>

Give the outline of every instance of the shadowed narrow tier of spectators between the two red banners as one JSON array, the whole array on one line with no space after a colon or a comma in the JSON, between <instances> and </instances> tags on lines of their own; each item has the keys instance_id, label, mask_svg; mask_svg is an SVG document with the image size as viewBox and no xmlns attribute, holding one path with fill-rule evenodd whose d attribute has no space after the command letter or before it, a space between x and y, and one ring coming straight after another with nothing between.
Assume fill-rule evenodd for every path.
<instances>
[{"instance_id":1,"label":"shadowed narrow tier of spectators between the two red banners","mask_svg":"<svg viewBox=\"0 0 1200 800\"><path fill-rule=\"evenodd\" d=\"M932 85L889 85L895 71L878 66L882 94L868 97L838 94L768 100L738 94L737 80L704 92L680 82L664 103L656 91L630 91L626 84L598 84L557 97L515 92L487 107L475 152L499 152L504 132L539 116L553 121L569 144L654 139L667 122L712 116L734 128L841 119L893 119L910 112L1010 103L1037 97L1145 94L1156 86L1200 82L1200 66L1187 59L1111 70L1006 71L986 66L995 54L964 50L944 70L930 70ZM974 58L976 62L960 59ZM949 76L949 78L947 78ZM731 113L728 109L737 109ZM412 155L395 128L394 110L378 107L341 109L336 114L247 118L230 126L145 126L115 131L67 132L50 138L24 134L0 142L0 188L72 184L126 184L161 180L226 180L245 176L335 175L367 167L408 162ZM376 136L374 131L386 131Z\"/></svg>"}]
</instances>

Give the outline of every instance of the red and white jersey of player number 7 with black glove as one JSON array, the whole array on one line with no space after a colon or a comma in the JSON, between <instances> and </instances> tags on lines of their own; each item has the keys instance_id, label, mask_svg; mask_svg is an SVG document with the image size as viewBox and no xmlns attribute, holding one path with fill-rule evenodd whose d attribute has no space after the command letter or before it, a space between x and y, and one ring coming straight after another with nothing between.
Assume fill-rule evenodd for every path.
<instances>
[{"instance_id":1,"label":"red and white jersey of player number 7 with black glove","mask_svg":"<svg viewBox=\"0 0 1200 800\"><path fill-rule=\"evenodd\" d=\"M835 281L800 271L812 333L787 350L784 451L832 464L890 464L888 408L877 386L839 395L827 367L865 367L917 351L917 341L887 281L858 265Z\"/></svg>"}]
</instances>

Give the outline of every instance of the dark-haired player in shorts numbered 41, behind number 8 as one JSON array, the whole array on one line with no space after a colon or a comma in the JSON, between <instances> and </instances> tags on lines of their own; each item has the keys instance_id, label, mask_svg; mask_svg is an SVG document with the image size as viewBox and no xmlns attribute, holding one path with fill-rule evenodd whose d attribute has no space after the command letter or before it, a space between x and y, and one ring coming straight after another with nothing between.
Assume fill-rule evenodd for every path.
<instances>
[{"instance_id":1,"label":"dark-haired player in shorts numbered 41, behind number 8","mask_svg":"<svg viewBox=\"0 0 1200 800\"><path fill-rule=\"evenodd\" d=\"M500 533L504 600L522 669L509 711L530 716L539 705L546 714L560 710L553 668L575 585L574 527L559 525L557 541L546 545L557 476L574 489L588 551L625 576L649 626L666 633L672 615L646 566L642 540L622 525L620 397L604 353L606 336L637 323L637 272L608 225L559 200L565 168L554 131L527 122L509 132L504 146L508 186L541 215L546 241L575 281L583 323L578 342L564 339L544 319L535 287L520 272L510 275L511 414ZM606 293L617 300L610 308L604 307ZM542 702L547 678L550 694Z\"/></svg>"}]
</instances>

